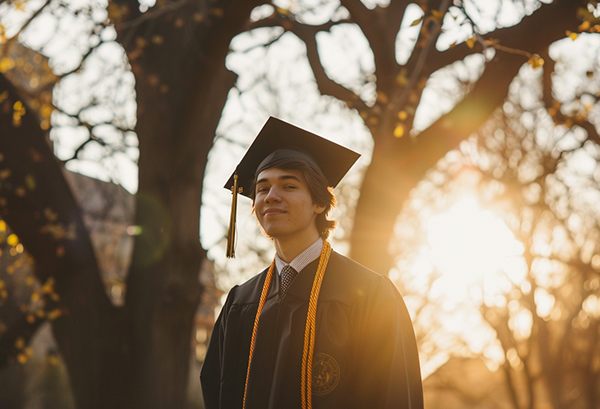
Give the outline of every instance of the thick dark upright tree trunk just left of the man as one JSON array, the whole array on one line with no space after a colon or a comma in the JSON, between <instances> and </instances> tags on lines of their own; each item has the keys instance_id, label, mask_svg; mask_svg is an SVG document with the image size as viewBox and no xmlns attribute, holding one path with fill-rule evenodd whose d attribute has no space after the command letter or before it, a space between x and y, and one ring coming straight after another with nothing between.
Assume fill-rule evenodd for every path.
<instances>
[{"instance_id":1,"label":"thick dark upright tree trunk just left of the man","mask_svg":"<svg viewBox=\"0 0 600 409\"><path fill-rule=\"evenodd\" d=\"M136 57L140 141L136 224L141 233L126 298L135 346L132 407L185 406L192 324L202 291L198 274L206 257L199 241L204 170L236 80L225 68L229 43L258 4L189 2L119 30L120 41ZM138 33L161 41L148 42L140 54L139 42L128 42Z\"/></svg>"}]
</instances>

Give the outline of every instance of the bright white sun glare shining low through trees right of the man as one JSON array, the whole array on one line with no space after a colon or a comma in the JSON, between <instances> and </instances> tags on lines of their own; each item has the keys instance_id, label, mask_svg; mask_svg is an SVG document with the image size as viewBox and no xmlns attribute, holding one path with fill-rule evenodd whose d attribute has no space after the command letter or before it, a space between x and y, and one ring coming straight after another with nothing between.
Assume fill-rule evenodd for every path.
<instances>
[{"instance_id":1,"label":"bright white sun glare shining low through trees right of the man","mask_svg":"<svg viewBox=\"0 0 600 409\"><path fill-rule=\"evenodd\" d=\"M459 196L443 213L429 217L425 230L427 240L412 271L417 285L427 292L429 305L437 306L435 316L425 325L437 327L438 336L445 340L432 342L443 351L458 337L468 350L485 357L490 369L497 368L504 355L493 330L484 323L480 306L485 303L514 309L508 305L506 294L525 283L523 245L499 216L481 208L472 191ZM511 312L511 326L527 336L531 319L517 312ZM433 371L447 357L447 353L430 357L431 362L424 363L424 373Z\"/></svg>"}]
</instances>

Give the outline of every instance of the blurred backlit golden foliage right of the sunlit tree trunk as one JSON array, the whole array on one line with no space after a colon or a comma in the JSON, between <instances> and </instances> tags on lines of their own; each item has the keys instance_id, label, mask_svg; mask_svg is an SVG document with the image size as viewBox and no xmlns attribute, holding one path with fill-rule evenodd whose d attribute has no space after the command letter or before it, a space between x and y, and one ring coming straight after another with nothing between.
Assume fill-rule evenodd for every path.
<instances>
[{"instance_id":1,"label":"blurred backlit golden foliage right of the sunlit tree trunk","mask_svg":"<svg viewBox=\"0 0 600 409\"><path fill-rule=\"evenodd\" d=\"M522 69L502 109L429 172L397 225L398 269L412 270L399 286L416 312L426 368L479 356L505 374L504 405L515 409L600 401L599 55L597 34L583 34L553 45L542 70ZM522 249L482 267L453 303L430 291L442 272L418 263L431 251L432 215L469 195ZM461 324L448 325L456 317Z\"/></svg>"}]
</instances>

